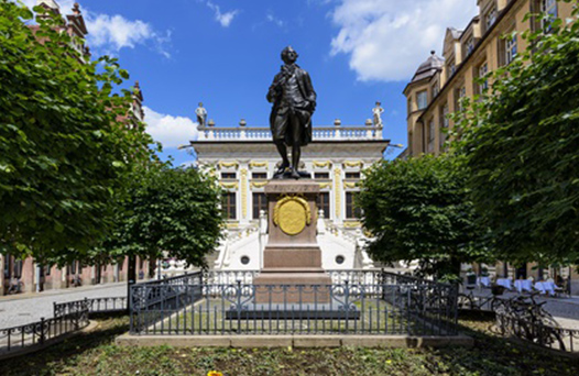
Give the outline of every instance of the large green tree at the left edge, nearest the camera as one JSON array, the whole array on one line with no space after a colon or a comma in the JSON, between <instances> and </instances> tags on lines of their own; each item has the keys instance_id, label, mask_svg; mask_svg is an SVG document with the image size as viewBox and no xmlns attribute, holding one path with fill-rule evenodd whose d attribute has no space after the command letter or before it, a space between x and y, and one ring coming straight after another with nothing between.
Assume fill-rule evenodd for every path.
<instances>
[{"instance_id":1,"label":"large green tree at the left edge, nearest the camera","mask_svg":"<svg viewBox=\"0 0 579 376\"><path fill-rule=\"evenodd\" d=\"M127 71L84 63L61 18L34 31L32 18L0 0L0 252L42 261L85 254L110 231L151 139L129 121Z\"/></svg>"}]
</instances>

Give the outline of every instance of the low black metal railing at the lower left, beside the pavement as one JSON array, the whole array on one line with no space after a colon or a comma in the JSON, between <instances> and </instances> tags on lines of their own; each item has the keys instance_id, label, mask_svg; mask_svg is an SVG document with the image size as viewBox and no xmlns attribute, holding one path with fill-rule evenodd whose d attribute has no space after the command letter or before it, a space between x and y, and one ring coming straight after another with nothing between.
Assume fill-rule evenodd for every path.
<instances>
[{"instance_id":1,"label":"low black metal railing at the lower left, beside the pavement","mask_svg":"<svg viewBox=\"0 0 579 376\"><path fill-rule=\"evenodd\" d=\"M0 329L0 356L42 346L51 340L86 328L89 323L88 309L78 308L52 319L42 318L39 322Z\"/></svg>"}]
</instances>

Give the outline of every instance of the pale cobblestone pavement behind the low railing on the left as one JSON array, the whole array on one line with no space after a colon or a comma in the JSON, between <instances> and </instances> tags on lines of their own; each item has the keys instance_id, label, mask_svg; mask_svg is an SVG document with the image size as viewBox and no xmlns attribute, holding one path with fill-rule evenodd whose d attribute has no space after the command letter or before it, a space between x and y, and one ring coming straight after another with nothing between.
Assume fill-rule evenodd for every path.
<instances>
[{"instance_id":1,"label":"pale cobblestone pavement behind the low railing on the left","mask_svg":"<svg viewBox=\"0 0 579 376\"><path fill-rule=\"evenodd\" d=\"M54 302L122 296L127 296L127 283L0 297L0 329L52 318Z\"/></svg>"}]
</instances>

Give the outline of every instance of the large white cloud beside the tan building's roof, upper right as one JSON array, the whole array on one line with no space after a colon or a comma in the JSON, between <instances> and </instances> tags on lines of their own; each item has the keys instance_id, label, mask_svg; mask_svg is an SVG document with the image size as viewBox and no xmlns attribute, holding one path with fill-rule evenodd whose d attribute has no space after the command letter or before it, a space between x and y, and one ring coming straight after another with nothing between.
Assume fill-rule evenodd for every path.
<instances>
[{"instance_id":1,"label":"large white cloud beside the tan building's roof, upper right","mask_svg":"<svg viewBox=\"0 0 579 376\"><path fill-rule=\"evenodd\" d=\"M407 80L429 51L441 51L448 26L462 29L476 14L474 0L341 0L331 53L350 55L360 80Z\"/></svg>"}]
</instances>

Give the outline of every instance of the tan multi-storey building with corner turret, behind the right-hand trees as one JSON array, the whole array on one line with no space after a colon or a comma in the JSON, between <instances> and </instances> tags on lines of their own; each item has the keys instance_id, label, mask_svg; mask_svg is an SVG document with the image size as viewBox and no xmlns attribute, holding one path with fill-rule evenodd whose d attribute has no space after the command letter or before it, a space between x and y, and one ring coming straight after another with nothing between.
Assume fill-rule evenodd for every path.
<instances>
[{"instance_id":1,"label":"tan multi-storey building with corner turret, behind the right-hand trees","mask_svg":"<svg viewBox=\"0 0 579 376\"><path fill-rule=\"evenodd\" d=\"M567 20L573 9L572 3L556 0L478 0L478 5L479 14L463 30L447 29L441 56L430 52L404 89L408 147L403 157L445 152L447 131L454 128L448 114L462 110L462 98L474 99L489 87L478 78L509 65L526 49L523 32L548 31L540 18L525 20L527 13ZM499 263L490 268L501 277L571 276L572 291L579 294L579 275L569 267L544 269L535 264Z\"/></svg>"}]
</instances>

